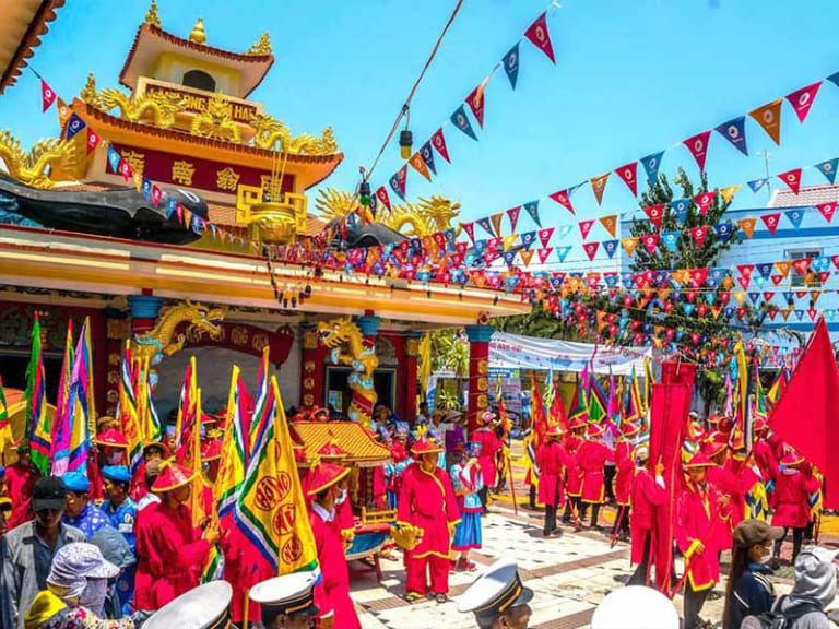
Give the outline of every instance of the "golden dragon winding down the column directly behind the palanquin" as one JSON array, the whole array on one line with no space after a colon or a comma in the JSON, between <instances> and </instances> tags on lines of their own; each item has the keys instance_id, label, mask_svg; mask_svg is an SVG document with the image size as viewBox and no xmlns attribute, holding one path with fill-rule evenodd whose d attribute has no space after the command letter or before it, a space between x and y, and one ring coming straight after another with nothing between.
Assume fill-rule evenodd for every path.
<instances>
[{"instance_id":1,"label":"golden dragon winding down the column directly behind the palanquin","mask_svg":"<svg viewBox=\"0 0 839 629\"><path fill-rule=\"evenodd\" d=\"M369 428L377 400L373 385L373 373L379 366L376 346L362 335L361 329L350 317L320 321L318 333L320 342L331 349L332 363L353 368L347 378L350 389L353 390L347 415L353 422Z\"/></svg>"}]
</instances>

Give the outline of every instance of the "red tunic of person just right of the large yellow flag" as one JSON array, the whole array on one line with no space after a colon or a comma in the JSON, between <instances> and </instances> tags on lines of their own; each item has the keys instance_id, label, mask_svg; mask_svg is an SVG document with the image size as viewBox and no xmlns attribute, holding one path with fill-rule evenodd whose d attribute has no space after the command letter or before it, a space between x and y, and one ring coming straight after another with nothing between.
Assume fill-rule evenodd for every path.
<instances>
[{"instance_id":1,"label":"red tunic of person just right of the large yellow flag","mask_svg":"<svg viewBox=\"0 0 839 629\"><path fill-rule=\"evenodd\" d=\"M344 543L338 522L333 519L326 522L320 514L311 509L309 523L318 549L318 563L322 580L315 586L315 605L320 610L320 617L334 614L334 627L361 629L362 624L350 598L350 569L344 556Z\"/></svg>"}]
</instances>

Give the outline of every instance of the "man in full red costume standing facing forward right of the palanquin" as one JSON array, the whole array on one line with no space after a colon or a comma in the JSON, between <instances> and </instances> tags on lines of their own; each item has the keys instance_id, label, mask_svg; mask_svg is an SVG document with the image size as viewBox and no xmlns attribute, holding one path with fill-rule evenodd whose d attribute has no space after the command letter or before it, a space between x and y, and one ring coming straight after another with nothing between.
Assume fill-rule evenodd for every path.
<instances>
[{"instance_id":1,"label":"man in full red costume standing facing forward right of the palanquin","mask_svg":"<svg viewBox=\"0 0 839 629\"><path fill-rule=\"evenodd\" d=\"M421 429L413 448L417 461L405 470L399 494L397 521L423 530L420 544L405 551L409 603L425 597L426 570L430 573L430 590L437 603L448 601L451 539L460 522L460 509L448 474L437 466L440 452L442 446Z\"/></svg>"}]
</instances>

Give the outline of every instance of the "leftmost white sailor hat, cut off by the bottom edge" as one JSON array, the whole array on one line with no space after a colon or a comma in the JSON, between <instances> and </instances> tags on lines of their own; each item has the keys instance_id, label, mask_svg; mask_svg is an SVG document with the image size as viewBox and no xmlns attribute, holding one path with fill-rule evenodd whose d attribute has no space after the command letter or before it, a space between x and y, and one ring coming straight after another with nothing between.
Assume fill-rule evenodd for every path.
<instances>
[{"instance_id":1,"label":"leftmost white sailor hat, cut off by the bottom edge","mask_svg":"<svg viewBox=\"0 0 839 629\"><path fill-rule=\"evenodd\" d=\"M233 588L227 581L211 581L181 594L143 625L144 629L225 629L231 626Z\"/></svg>"}]
</instances>

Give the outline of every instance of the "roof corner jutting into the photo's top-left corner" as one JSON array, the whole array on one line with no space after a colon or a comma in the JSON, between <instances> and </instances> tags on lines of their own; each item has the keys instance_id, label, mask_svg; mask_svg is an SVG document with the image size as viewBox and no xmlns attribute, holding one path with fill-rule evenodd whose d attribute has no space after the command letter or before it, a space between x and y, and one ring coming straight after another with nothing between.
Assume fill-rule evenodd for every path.
<instances>
[{"instance_id":1,"label":"roof corner jutting into the photo's top-left corner","mask_svg":"<svg viewBox=\"0 0 839 629\"><path fill-rule=\"evenodd\" d=\"M0 94L14 85L64 0L4 2L0 20Z\"/></svg>"}]
</instances>

